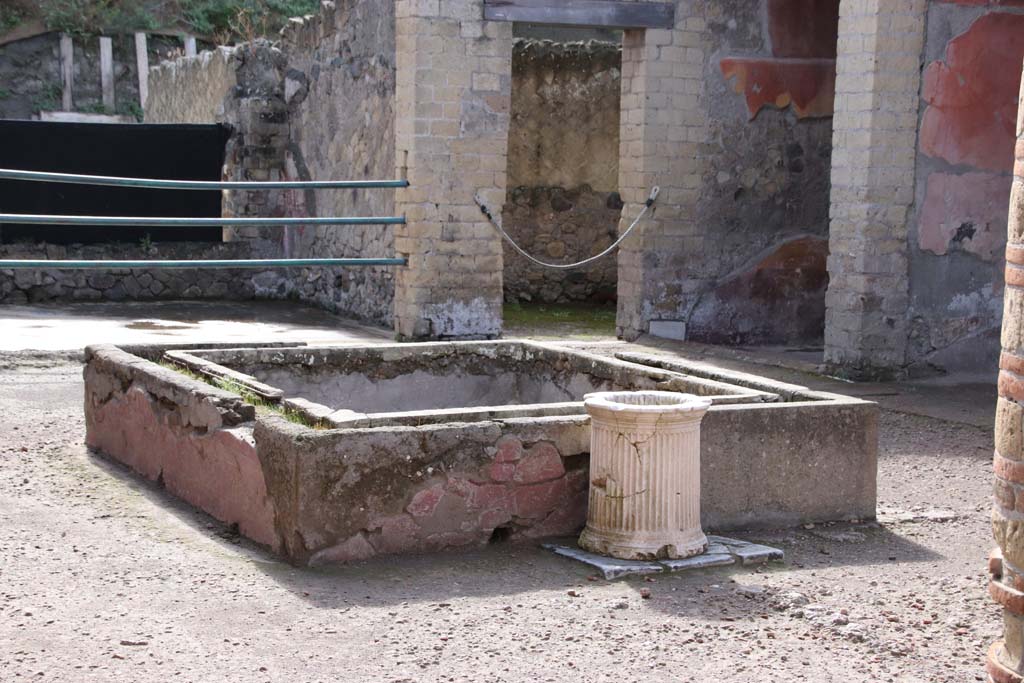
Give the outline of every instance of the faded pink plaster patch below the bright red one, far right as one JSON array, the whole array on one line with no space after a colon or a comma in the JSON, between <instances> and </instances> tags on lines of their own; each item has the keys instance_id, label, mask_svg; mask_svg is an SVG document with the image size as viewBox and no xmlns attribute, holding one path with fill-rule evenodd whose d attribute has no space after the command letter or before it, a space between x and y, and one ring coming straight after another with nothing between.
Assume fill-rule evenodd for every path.
<instances>
[{"instance_id":1,"label":"faded pink plaster patch below the bright red one, far right","mask_svg":"<svg viewBox=\"0 0 1024 683\"><path fill-rule=\"evenodd\" d=\"M1007 176L991 173L933 173L928 176L918 244L939 256L951 245L985 261L1002 256L1010 206Z\"/></svg>"}]
</instances>

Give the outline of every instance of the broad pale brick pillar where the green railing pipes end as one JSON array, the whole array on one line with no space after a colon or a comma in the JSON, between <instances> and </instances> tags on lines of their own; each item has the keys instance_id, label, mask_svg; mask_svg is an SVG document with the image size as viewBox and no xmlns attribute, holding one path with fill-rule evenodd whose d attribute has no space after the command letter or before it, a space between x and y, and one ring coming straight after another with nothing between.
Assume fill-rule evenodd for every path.
<instances>
[{"instance_id":1,"label":"broad pale brick pillar where the green railing pipes end","mask_svg":"<svg viewBox=\"0 0 1024 683\"><path fill-rule=\"evenodd\" d=\"M502 331L502 244L474 195L505 203L512 25L480 0L397 0L395 164L411 186L395 252L399 339L480 339Z\"/></svg>"}]
</instances>

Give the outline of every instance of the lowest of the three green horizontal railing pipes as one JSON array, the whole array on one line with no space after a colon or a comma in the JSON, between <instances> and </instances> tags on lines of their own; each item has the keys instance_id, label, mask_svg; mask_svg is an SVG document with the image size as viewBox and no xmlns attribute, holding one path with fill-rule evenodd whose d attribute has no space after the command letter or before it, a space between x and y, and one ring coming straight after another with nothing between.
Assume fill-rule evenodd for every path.
<instances>
[{"instance_id":1,"label":"lowest of the three green horizontal railing pipes","mask_svg":"<svg viewBox=\"0 0 1024 683\"><path fill-rule=\"evenodd\" d=\"M403 258L248 258L220 260L183 261L74 261L56 259L8 259L0 260L0 270L9 269L128 269L128 268L292 268L300 266L364 266L364 265L406 265Z\"/></svg>"}]
</instances>

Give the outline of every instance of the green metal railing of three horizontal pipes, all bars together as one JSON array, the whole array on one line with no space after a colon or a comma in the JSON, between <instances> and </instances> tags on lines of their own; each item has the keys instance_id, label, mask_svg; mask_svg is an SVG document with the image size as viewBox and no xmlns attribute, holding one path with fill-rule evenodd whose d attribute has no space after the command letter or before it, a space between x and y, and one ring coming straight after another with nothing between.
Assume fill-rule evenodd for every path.
<instances>
[{"instance_id":1,"label":"green metal railing of three horizontal pipes, all bars together","mask_svg":"<svg viewBox=\"0 0 1024 683\"><path fill-rule=\"evenodd\" d=\"M159 178L123 178L105 175L47 173L19 169L0 169L0 180L31 182L62 182L72 184L134 187L150 189L232 190L232 189L373 189L408 187L408 180L270 180L223 181L165 180ZM134 216L62 216L44 214L0 214L0 223L28 225L99 225L111 227L281 227L289 225L400 225L402 216L333 216L285 218L178 218ZM62 260L62 259L0 259L2 269L123 269L123 268L273 268L295 266L373 266L407 265L403 258L262 258L262 259L195 259L195 260Z\"/></svg>"}]
</instances>

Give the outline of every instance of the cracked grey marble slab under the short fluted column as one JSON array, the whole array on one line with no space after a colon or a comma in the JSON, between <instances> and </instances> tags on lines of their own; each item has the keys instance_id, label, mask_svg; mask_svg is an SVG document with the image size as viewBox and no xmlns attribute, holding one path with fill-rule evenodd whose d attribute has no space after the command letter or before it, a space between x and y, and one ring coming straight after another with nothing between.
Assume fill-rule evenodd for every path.
<instances>
[{"instance_id":1,"label":"cracked grey marble slab under the short fluted column","mask_svg":"<svg viewBox=\"0 0 1024 683\"><path fill-rule=\"evenodd\" d=\"M700 555L687 557L682 560L655 560L649 562L620 560L614 557L587 552L580 548L574 541L544 543L541 544L541 547L563 557L589 564L601 571L604 578L609 581L621 579L622 577L686 571L688 569L708 569L710 567L722 567L732 564L751 566L771 561L780 561L784 557L782 551L777 548L711 535L708 536L708 550Z\"/></svg>"}]
</instances>

